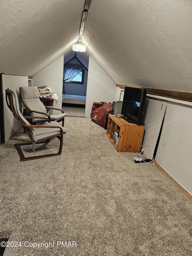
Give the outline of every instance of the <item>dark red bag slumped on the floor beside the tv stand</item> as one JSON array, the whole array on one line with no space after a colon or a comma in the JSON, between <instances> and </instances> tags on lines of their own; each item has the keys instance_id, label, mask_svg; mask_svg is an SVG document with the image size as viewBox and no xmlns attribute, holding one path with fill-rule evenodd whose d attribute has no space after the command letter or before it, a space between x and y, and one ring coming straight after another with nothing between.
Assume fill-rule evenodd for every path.
<instances>
[{"instance_id":1,"label":"dark red bag slumped on the floor beside the tv stand","mask_svg":"<svg viewBox=\"0 0 192 256\"><path fill-rule=\"evenodd\" d=\"M91 120L101 127L105 127L106 118L112 112L113 103L94 102L91 109Z\"/></svg>"}]
</instances>

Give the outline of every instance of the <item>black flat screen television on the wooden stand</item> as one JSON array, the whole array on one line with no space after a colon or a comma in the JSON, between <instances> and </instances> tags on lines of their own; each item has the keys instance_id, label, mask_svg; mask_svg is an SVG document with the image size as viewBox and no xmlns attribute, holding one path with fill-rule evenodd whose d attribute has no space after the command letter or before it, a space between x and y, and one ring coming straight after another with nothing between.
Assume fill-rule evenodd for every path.
<instances>
[{"instance_id":1,"label":"black flat screen television on the wooden stand","mask_svg":"<svg viewBox=\"0 0 192 256\"><path fill-rule=\"evenodd\" d=\"M146 94L146 89L125 87L121 114L126 121L141 124Z\"/></svg>"}]
</instances>

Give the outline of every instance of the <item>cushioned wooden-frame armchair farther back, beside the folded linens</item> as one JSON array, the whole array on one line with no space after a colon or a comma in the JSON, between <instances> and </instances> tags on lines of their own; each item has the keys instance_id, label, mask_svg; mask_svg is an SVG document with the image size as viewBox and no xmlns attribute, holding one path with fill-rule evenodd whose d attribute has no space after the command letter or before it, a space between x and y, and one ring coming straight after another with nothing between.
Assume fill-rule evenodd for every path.
<instances>
[{"instance_id":1,"label":"cushioned wooden-frame armchair farther back, beside the folded linens","mask_svg":"<svg viewBox=\"0 0 192 256\"><path fill-rule=\"evenodd\" d=\"M29 110L32 110L30 114L33 117L33 123L44 122L43 119L37 119L37 116L42 116L47 117L50 121L62 121L62 126L64 126L64 117L67 115L67 113L64 113L62 109L52 107L52 109L60 111L61 113L49 115L47 109L50 109L50 107L44 106L44 104L41 102L37 86L22 86L19 88L19 92L24 110L28 112L30 112Z\"/></svg>"}]
</instances>

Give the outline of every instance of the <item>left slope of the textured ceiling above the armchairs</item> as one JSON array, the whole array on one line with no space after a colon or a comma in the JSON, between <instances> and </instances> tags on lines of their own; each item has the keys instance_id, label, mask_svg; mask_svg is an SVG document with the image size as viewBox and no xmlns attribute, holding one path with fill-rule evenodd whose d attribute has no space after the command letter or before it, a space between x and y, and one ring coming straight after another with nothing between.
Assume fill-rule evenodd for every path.
<instances>
[{"instance_id":1,"label":"left slope of the textured ceiling above the armchairs","mask_svg":"<svg viewBox=\"0 0 192 256\"><path fill-rule=\"evenodd\" d=\"M32 76L71 49L79 34L84 2L2 1L0 72Z\"/></svg>"}]
</instances>

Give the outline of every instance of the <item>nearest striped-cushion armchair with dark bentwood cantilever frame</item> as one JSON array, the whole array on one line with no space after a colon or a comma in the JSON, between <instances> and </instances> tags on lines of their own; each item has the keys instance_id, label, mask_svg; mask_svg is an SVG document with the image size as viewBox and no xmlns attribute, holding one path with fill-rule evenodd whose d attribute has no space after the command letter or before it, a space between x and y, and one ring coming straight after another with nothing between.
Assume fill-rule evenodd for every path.
<instances>
[{"instance_id":1,"label":"nearest striped-cushion armchair with dark bentwood cantilever frame","mask_svg":"<svg viewBox=\"0 0 192 256\"><path fill-rule=\"evenodd\" d=\"M13 113L13 116L19 120L19 122L25 127L26 133L28 134L31 142L26 143L17 143L14 144L17 152L20 156L20 161L28 161L38 158L51 157L56 155L61 155L62 146L63 146L63 134L67 131L66 128L58 124L58 122L50 121L47 117L36 116L36 119L42 119L44 121L48 121L43 125L31 125L20 112L19 109L19 100L17 93L12 91L11 89L6 89L6 102L8 108ZM33 118L32 116L27 118ZM32 144L32 150L35 152L35 144L36 143L47 143L49 139L57 137L60 140L59 150L57 153L46 154L46 155L36 155L32 157L25 157L22 150L21 145L30 145Z\"/></svg>"}]
</instances>

